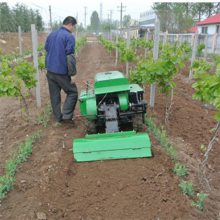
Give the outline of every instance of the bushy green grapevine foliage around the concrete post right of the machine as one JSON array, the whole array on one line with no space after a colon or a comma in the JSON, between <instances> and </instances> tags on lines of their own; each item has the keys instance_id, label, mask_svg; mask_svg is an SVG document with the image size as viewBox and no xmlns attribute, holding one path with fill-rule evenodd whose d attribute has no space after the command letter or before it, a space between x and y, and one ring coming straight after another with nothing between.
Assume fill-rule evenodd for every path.
<instances>
[{"instance_id":1,"label":"bushy green grapevine foliage around the concrete post right of the machine","mask_svg":"<svg viewBox=\"0 0 220 220\"><path fill-rule=\"evenodd\" d=\"M156 83L161 92L168 94L175 87L174 77L184 67L189 54L190 50L186 44L165 44L157 60L153 57L140 59L137 67L130 72L129 80L139 85Z\"/></svg>"}]
</instances>

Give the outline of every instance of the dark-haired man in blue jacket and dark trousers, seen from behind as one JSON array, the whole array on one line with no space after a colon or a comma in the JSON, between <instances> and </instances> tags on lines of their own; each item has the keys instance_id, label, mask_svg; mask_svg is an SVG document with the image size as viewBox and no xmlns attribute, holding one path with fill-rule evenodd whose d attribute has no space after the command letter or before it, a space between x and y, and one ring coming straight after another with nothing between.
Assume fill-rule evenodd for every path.
<instances>
[{"instance_id":1,"label":"dark-haired man in blue jacket and dark trousers, seen from behind","mask_svg":"<svg viewBox=\"0 0 220 220\"><path fill-rule=\"evenodd\" d=\"M72 120L78 97L77 87L68 75L67 64L67 56L75 53L75 38L72 32L76 24L74 17L66 17L63 26L52 32L45 43L50 101L57 122ZM62 111L61 89L66 93Z\"/></svg>"}]
</instances>

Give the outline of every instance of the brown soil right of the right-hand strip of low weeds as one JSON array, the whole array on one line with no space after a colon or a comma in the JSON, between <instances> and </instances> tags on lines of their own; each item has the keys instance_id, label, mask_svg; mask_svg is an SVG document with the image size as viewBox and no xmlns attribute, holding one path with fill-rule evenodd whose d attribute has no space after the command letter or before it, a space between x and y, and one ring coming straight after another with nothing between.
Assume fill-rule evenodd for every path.
<instances>
[{"instance_id":1,"label":"brown soil right of the right-hand strip of low weeds","mask_svg":"<svg viewBox=\"0 0 220 220\"><path fill-rule=\"evenodd\" d=\"M188 75L188 74L186 74ZM157 93L155 108L149 114L156 117L158 124L162 124L178 149L179 159L190 170L190 179L198 186L197 190L209 194L205 201L204 212L198 212L198 219L220 219L220 141L214 144L209 155L207 166L207 178L211 186L208 190L204 179L200 175L200 164L204 160L204 152L201 145L207 146L212 130L216 125L214 120L215 111L212 106L206 106L192 99L192 83L186 76L178 75L175 79L177 84L174 89L174 98L169 123L164 125L165 96ZM150 91L147 89L147 91ZM149 93L146 92L146 99ZM202 182L200 182L202 180Z\"/></svg>"}]
</instances>

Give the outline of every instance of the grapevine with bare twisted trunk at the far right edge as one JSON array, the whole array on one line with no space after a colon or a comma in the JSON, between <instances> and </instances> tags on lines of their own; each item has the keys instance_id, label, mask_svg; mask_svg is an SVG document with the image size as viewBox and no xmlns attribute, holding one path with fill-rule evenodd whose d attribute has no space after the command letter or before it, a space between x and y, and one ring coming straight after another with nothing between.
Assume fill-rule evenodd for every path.
<instances>
[{"instance_id":1,"label":"grapevine with bare twisted trunk at the far right edge","mask_svg":"<svg viewBox=\"0 0 220 220\"><path fill-rule=\"evenodd\" d=\"M193 98L206 105L211 105L216 110L216 126L212 129L210 141L207 146L201 145L201 149L204 151L204 158L200 164L199 178L200 183L208 191L211 191L207 171L209 154L220 134L220 59L218 61L216 58L215 65L216 68L214 73L210 73L212 65L205 60L196 60L192 66L195 79L195 83L192 85L195 90Z\"/></svg>"}]
</instances>

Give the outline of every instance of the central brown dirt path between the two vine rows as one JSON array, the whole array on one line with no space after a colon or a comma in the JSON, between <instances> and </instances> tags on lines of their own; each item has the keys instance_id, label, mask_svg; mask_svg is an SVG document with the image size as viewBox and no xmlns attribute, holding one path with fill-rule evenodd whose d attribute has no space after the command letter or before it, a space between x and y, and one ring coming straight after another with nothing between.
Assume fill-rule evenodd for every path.
<instances>
[{"instance_id":1,"label":"central brown dirt path between the two vine rows","mask_svg":"<svg viewBox=\"0 0 220 220\"><path fill-rule=\"evenodd\" d=\"M100 45L87 43L78 69L81 89L95 73L117 68ZM75 163L72 138L83 135L79 118L75 126L55 127L50 122L33 155L19 169L14 190L0 206L0 219L37 219L39 213L51 220L197 219L179 191L170 159L156 143L151 159Z\"/></svg>"}]
</instances>

